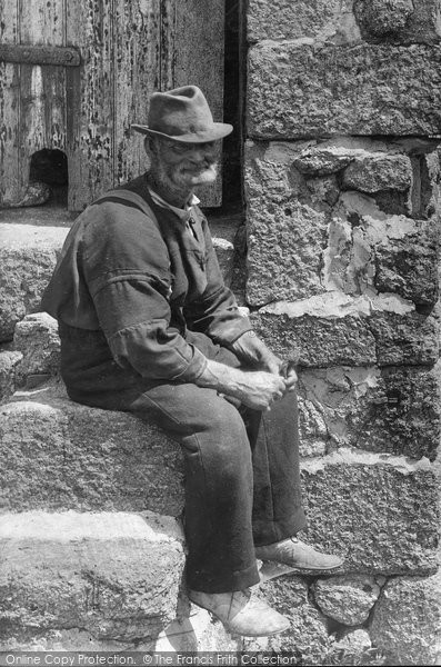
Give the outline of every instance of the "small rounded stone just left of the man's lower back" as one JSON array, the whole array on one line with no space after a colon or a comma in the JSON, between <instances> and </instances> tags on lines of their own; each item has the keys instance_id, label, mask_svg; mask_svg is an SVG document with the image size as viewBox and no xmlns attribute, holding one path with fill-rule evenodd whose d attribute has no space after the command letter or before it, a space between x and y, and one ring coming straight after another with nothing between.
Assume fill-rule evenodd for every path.
<instances>
[{"instance_id":1,"label":"small rounded stone just left of the man's lower back","mask_svg":"<svg viewBox=\"0 0 441 667\"><path fill-rule=\"evenodd\" d=\"M56 376L60 366L60 338L58 323L47 312L26 316L17 323L13 345L23 355L18 369L18 380L27 376L48 374Z\"/></svg>"}]
</instances>

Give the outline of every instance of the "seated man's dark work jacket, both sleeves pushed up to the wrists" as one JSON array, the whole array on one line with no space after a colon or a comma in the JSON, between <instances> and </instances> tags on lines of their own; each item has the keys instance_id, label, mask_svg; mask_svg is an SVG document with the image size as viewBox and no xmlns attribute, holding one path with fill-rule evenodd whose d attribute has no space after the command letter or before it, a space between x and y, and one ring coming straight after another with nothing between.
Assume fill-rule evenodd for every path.
<instances>
[{"instance_id":1,"label":"seated man's dark work jacket, both sleeves pushed up to the wrists","mask_svg":"<svg viewBox=\"0 0 441 667\"><path fill-rule=\"evenodd\" d=\"M251 326L223 285L203 213L191 210L193 233L152 200L146 177L108 193L74 222L42 308L89 341L96 332L100 357L103 335L120 368L194 381L207 359L189 331L228 345Z\"/></svg>"}]
</instances>

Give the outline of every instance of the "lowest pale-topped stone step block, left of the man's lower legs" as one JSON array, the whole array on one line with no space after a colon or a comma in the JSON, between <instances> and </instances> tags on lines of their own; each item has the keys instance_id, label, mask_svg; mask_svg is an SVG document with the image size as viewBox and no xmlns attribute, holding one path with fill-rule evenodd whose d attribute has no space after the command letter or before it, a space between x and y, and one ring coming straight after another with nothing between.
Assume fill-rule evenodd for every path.
<instances>
[{"instance_id":1,"label":"lowest pale-topped stone step block, left of the man's lower legs","mask_svg":"<svg viewBox=\"0 0 441 667\"><path fill-rule=\"evenodd\" d=\"M176 521L130 512L0 517L0 634L78 629L156 637L176 615L184 554Z\"/></svg>"}]
</instances>

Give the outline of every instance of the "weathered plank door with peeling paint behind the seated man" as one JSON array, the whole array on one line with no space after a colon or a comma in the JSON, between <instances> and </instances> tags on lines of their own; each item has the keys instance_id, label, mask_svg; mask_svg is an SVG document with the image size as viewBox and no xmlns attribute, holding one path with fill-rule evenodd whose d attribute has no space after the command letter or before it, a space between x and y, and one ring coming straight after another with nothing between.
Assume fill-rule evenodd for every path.
<instances>
[{"instance_id":1,"label":"weathered plank door with peeling paint behind the seated man","mask_svg":"<svg viewBox=\"0 0 441 667\"><path fill-rule=\"evenodd\" d=\"M78 67L0 62L0 205L26 191L30 158L66 152L69 209L146 169L142 136L154 90L196 83L222 119L223 2L0 0L0 44L73 47ZM220 182L204 196L220 203Z\"/></svg>"}]
</instances>

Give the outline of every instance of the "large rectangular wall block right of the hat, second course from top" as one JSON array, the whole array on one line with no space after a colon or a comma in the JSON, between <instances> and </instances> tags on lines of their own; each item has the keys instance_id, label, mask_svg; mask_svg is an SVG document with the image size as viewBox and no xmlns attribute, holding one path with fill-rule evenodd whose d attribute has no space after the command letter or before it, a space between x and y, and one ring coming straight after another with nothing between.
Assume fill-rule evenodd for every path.
<instances>
[{"instance_id":1,"label":"large rectangular wall block right of the hat, second course from top","mask_svg":"<svg viewBox=\"0 0 441 667\"><path fill-rule=\"evenodd\" d=\"M440 60L438 46L260 42L249 56L249 136L438 135Z\"/></svg>"}]
</instances>

